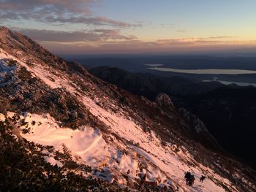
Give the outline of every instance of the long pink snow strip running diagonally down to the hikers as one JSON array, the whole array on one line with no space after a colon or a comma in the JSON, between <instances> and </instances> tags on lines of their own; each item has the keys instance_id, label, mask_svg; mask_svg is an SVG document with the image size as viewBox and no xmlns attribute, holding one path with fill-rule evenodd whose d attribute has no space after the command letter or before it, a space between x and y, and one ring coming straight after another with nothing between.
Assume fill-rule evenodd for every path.
<instances>
[{"instance_id":1,"label":"long pink snow strip running diagonally down to the hikers","mask_svg":"<svg viewBox=\"0 0 256 192\"><path fill-rule=\"evenodd\" d=\"M189 166L187 161L193 162L195 160L193 159L192 155L187 153L187 151L180 150L179 153L173 153L172 146L167 144L166 147L163 147L161 140L157 138L154 131L151 131L151 133L146 133L132 120L128 120L124 116L115 115L114 113L102 109L102 107L94 104L94 101L88 97L83 97L83 102L87 104L94 115L97 115L100 120L110 126L111 131L134 143L134 145L129 145L132 150L135 150L138 154L146 158L146 160L148 160L151 164L157 166L157 168L154 167L153 170L150 170L150 175L147 174L147 178L151 178L151 181L158 179L159 183L162 183L163 181L166 182L167 176L175 180L176 185L178 185L178 183L183 183L183 187L181 188L189 191L191 189L186 186L184 181L184 172L189 170L195 174L198 181L195 182L195 186L197 186L195 187L195 191L200 190L200 188L204 188L204 191L211 191L212 186L215 186L215 191L225 191L222 187L216 185L211 180L208 180L208 185L211 186L209 188L203 187L203 185L199 183L200 175L203 172L206 172L206 170L209 168L204 167L203 165L198 167ZM159 170L161 170L161 172ZM228 180L219 177L219 175L214 174L213 171L209 172L209 175L211 175L211 177L218 178L221 182L226 183L226 185L230 185Z\"/></svg>"}]
</instances>

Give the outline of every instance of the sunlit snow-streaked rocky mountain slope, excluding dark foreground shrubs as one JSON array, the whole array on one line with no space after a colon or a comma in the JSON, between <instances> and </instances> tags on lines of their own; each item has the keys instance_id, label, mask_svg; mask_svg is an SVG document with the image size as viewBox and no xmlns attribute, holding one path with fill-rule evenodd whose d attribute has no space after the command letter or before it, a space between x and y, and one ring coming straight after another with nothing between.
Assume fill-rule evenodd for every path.
<instances>
[{"instance_id":1,"label":"sunlit snow-streaked rocky mountain slope, excluding dark foreground shrubs","mask_svg":"<svg viewBox=\"0 0 256 192\"><path fill-rule=\"evenodd\" d=\"M175 109L165 112L7 28L0 42L1 127L11 130L4 134L27 153L38 145L36 155L66 180L72 172L117 191L255 191L255 172L196 142Z\"/></svg>"}]
</instances>

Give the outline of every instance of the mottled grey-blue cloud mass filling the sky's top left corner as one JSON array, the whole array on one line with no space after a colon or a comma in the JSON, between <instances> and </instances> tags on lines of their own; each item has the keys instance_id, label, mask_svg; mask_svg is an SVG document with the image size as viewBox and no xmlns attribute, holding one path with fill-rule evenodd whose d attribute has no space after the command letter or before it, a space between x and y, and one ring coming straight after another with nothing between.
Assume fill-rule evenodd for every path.
<instances>
[{"instance_id":1,"label":"mottled grey-blue cloud mass filling the sky's top left corner","mask_svg":"<svg viewBox=\"0 0 256 192\"><path fill-rule=\"evenodd\" d=\"M80 23L94 26L129 28L141 23L125 23L94 16L96 0L0 0L0 20L36 20L42 23Z\"/></svg>"}]
</instances>

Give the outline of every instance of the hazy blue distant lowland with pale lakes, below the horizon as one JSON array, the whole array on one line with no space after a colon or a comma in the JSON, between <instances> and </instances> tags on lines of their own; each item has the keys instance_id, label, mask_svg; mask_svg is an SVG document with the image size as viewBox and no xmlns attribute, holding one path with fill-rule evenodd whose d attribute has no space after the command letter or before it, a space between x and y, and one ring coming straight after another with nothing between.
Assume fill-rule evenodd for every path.
<instances>
[{"instance_id":1,"label":"hazy blue distant lowland with pale lakes, below the horizon","mask_svg":"<svg viewBox=\"0 0 256 192\"><path fill-rule=\"evenodd\" d=\"M102 55L67 56L85 64L86 69L113 66L135 73L148 73L161 77L186 77L200 81L218 81L224 85L241 86L256 83L256 58L246 56L217 57L206 55Z\"/></svg>"}]
</instances>

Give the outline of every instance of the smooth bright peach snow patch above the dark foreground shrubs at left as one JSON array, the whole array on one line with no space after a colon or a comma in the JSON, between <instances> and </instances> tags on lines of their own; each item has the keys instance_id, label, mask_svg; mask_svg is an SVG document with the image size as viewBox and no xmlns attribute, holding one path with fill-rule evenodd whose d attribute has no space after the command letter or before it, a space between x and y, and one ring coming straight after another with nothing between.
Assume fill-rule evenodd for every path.
<instances>
[{"instance_id":1,"label":"smooth bright peach snow patch above the dark foreground shrubs at left","mask_svg":"<svg viewBox=\"0 0 256 192\"><path fill-rule=\"evenodd\" d=\"M8 116L12 116L9 114ZM97 166L108 156L108 147L99 129L83 127L79 130L60 128L49 114L37 115L24 113L26 123L20 126L20 135L41 145L52 145L56 150L62 150L65 145L73 155L78 155L89 166ZM23 129L29 130L23 131Z\"/></svg>"}]
</instances>

